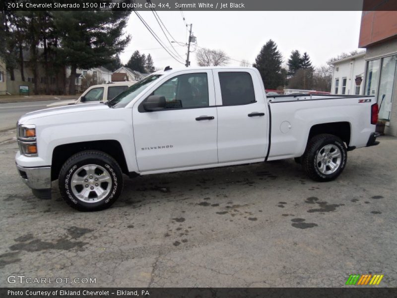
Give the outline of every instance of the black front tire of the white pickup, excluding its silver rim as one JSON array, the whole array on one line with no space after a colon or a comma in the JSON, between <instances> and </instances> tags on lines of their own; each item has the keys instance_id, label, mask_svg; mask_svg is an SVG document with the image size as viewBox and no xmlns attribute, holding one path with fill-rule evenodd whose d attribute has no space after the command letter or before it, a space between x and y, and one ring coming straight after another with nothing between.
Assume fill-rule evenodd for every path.
<instances>
[{"instance_id":1,"label":"black front tire of the white pickup, excluding its silver rim","mask_svg":"<svg viewBox=\"0 0 397 298\"><path fill-rule=\"evenodd\" d=\"M108 194L100 200L99 197L97 197L99 200L97 202L84 202L77 198L72 191L71 178L73 174L75 174L77 170L81 171L82 166L89 164L102 167L108 171L106 174L110 176L109 181L111 181L111 184L108 186L105 184L105 188L109 187L109 189L106 190ZM77 175L78 174L79 173L77 173ZM59 173L58 183L61 195L69 206L78 211L99 211L109 208L119 198L123 190L123 173L117 161L109 154L102 151L87 150L76 153L66 160ZM75 190L76 187L77 186L75 186ZM94 195L96 194L95 191L93 191L93 193ZM95 200L95 198L93 198L93 200Z\"/></svg>"}]
</instances>

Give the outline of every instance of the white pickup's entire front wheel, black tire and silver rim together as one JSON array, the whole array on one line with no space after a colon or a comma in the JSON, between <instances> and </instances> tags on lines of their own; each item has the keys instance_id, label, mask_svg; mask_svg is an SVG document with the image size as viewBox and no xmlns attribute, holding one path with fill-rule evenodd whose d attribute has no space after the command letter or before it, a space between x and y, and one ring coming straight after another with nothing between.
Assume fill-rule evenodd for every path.
<instances>
[{"instance_id":1,"label":"white pickup's entire front wheel, black tire and silver rim together","mask_svg":"<svg viewBox=\"0 0 397 298\"><path fill-rule=\"evenodd\" d=\"M59 174L59 189L66 203L79 211L110 207L123 189L117 161L101 151L82 151L66 160Z\"/></svg>"}]
</instances>

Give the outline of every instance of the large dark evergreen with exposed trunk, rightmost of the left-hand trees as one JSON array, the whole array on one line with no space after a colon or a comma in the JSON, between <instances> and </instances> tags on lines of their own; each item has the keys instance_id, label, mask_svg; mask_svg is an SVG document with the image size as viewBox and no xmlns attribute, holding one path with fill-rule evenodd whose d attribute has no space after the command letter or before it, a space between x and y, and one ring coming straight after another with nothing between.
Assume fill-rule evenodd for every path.
<instances>
[{"instance_id":1,"label":"large dark evergreen with exposed trunk, rightmost of the left-hand trees","mask_svg":"<svg viewBox=\"0 0 397 298\"><path fill-rule=\"evenodd\" d=\"M123 37L128 11L53 11L60 34L59 54L70 65L69 94L75 93L77 68L91 69L111 62L130 37Z\"/></svg>"}]
</instances>

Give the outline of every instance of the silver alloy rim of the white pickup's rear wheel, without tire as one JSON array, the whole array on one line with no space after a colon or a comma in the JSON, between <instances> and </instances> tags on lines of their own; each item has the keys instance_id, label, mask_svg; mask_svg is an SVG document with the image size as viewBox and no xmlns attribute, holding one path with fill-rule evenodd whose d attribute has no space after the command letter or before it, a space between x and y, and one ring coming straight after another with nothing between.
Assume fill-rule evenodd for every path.
<instances>
[{"instance_id":1,"label":"silver alloy rim of the white pickup's rear wheel, without tire","mask_svg":"<svg viewBox=\"0 0 397 298\"><path fill-rule=\"evenodd\" d=\"M335 145L326 145L317 154L316 165L321 173L329 175L339 168L341 160L340 149Z\"/></svg>"}]
</instances>

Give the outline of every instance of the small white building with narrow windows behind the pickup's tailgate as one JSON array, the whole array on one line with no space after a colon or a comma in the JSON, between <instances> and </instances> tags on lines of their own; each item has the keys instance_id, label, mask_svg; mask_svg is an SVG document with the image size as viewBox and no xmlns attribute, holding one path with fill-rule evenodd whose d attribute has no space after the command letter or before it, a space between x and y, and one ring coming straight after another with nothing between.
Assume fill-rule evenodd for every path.
<instances>
[{"instance_id":1,"label":"small white building with narrow windows behind the pickup's tailgate","mask_svg":"<svg viewBox=\"0 0 397 298\"><path fill-rule=\"evenodd\" d=\"M364 93L365 52L333 61L332 94L361 95ZM357 81L361 83L356 84Z\"/></svg>"}]
</instances>

